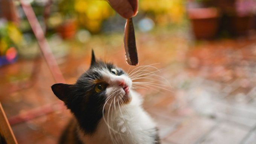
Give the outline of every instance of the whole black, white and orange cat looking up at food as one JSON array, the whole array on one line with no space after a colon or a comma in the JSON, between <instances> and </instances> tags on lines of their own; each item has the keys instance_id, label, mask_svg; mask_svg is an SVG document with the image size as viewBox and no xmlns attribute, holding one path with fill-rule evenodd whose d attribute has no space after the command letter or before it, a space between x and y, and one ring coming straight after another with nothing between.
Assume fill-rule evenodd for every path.
<instances>
[{"instance_id":1,"label":"whole black, white and orange cat looking up at food","mask_svg":"<svg viewBox=\"0 0 256 144\"><path fill-rule=\"evenodd\" d=\"M132 80L91 52L90 68L75 84L54 84L53 93L74 115L59 144L160 144L155 122Z\"/></svg>"}]
</instances>

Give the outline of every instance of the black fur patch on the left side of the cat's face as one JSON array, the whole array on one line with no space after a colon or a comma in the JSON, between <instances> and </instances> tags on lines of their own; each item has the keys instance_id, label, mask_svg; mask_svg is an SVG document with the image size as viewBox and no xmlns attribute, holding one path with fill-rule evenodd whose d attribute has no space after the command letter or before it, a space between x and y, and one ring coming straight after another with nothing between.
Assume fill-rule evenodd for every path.
<instances>
[{"instance_id":1,"label":"black fur patch on the left side of the cat's face","mask_svg":"<svg viewBox=\"0 0 256 144\"><path fill-rule=\"evenodd\" d=\"M103 63L102 63L103 64ZM113 67L110 64L106 64ZM103 68L105 65L97 63L94 68ZM73 85L71 96L66 103L67 107L74 113L82 130L86 134L92 134L102 118L102 109L105 104L105 91L94 92L92 80L101 79L98 71L89 69Z\"/></svg>"}]
</instances>

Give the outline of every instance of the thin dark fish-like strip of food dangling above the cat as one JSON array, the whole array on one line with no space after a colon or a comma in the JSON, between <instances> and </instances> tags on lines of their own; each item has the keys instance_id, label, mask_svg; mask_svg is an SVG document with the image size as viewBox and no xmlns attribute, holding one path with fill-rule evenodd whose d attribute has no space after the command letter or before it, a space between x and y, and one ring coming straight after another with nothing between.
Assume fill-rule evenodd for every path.
<instances>
[{"instance_id":1,"label":"thin dark fish-like strip of food dangling above the cat","mask_svg":"<svg viewBox=\"0 0 256 144\"><path fill-rule=\"evenodd\" d=\"M125 56L128 65L138 65L138 54L132 18L126 20L123 43L125 45Z\"/></svg>"}]
</instances>

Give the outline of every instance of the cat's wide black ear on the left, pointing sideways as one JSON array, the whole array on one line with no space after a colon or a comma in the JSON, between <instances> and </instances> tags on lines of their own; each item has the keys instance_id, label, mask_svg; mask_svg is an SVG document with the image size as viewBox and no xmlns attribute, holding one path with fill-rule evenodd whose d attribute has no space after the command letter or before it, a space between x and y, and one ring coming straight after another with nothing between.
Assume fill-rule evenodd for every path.
<instances>
[{"instance_id":1,"label":"cat's wide black ear on the left, pointing sideways","mask_svg":"<svg viewBox=\"0 0 256 144\"><path fill-rule=\"evenodd\" d=\"M53 84L52 91L61 101L67 102L71 86L70 84Z\"/></svg>"}]
</instances>

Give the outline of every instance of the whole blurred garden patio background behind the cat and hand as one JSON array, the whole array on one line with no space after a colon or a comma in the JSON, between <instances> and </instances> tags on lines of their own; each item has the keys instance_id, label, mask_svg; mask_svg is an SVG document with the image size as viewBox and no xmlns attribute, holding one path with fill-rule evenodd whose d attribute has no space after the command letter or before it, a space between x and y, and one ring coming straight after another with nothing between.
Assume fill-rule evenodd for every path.
<instances>
[{"instance_id":1,"label":"whole blurred garden patio background behind the cat and hand","mask_svg":"<svg viewBox=\"0 0 256 144\"><path fill-rule=\"evenodd\" d=\"M91 49L136 68L125 21L104 0L0 0L0 101L18 143L58 141L71 114L50 86L75 83ZM133 21L139 66L165 79L137 90L162 143L255 144L256 0L139 0Z\"/></svg>"}]
</instances>

